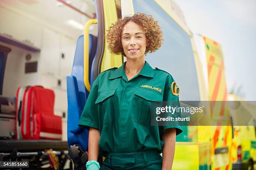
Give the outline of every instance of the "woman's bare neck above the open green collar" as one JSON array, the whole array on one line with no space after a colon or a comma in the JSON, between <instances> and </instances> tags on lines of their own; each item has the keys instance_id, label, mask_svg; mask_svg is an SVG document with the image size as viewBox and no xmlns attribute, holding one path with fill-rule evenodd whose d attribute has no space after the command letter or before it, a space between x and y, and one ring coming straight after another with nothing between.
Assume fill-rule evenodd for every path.
<instances>
[{"instance_id":1,"label":"woman's bare neck above the open green collar","mask_svg":"<svg viewBox=\"0 0 256 170\"><path fill-rule=\"evenodd\" d=\"M137 59L129 59L127 58L125 64L125 73L131 75L137 75L145 64L144 57L140 57Z\"/></svg>"}]
</instances>

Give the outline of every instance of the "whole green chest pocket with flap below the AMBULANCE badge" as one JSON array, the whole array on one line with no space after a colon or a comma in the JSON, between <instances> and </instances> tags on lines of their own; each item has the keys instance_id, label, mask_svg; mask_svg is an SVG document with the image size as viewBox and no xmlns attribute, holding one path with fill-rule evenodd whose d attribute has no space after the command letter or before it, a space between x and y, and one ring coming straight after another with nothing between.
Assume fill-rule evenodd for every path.
<instances>
[{"instance_id":1,"label":"whole green chest pocket with flap below the AMBULANCE badge","mask_svg":"<svg viewBox=\"0 0 256 170\"><path fill-rule=\"evenodd\" d=\"M138 123L151 124L151 102L159 102L162 100L163 96L159 92L137 88L133 96L133 121Z\"/></svg>"}]
</instances>

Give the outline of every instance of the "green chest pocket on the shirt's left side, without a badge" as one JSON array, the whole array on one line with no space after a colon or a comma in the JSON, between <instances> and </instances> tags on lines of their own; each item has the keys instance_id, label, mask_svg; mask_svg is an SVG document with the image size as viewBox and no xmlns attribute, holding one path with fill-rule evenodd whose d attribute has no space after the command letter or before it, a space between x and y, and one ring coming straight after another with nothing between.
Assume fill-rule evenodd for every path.
<instances>
[{"instance_id":1,"label":"green chest pocket on the shirt's left side, without a badge","mask_svg":"<svg viewBox=\"0 0 256 170\"><path fill-rule=\"evenodd\" d=\"M116 89L110 89L100 92L95 102L98 104L99 122L103 122L104 125L113 122L112 113L117 105L115 91Z\"/></svg>"}]
</instances>

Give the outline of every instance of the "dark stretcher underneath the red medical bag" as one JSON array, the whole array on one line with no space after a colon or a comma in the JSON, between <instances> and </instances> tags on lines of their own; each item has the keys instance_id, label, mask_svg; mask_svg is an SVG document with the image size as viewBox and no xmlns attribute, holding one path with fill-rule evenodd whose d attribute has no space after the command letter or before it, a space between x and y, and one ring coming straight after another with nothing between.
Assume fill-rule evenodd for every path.
<instances>
[{"instance_id":1,"label":"dark stretcher underneath the red medical bag","mask_svg":"<svg viewBox=\"0 0 256 170\"><path fill-rule=\"evenodd\" d=\"M67 160L70 160L67 141L0 140L0 161L28 161L30 170L63 170ZM66 170L72 169L71 161L68 167L71 168Z\"/></svg>"}]
</instances>

